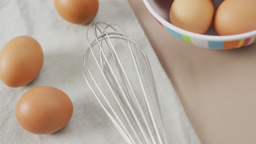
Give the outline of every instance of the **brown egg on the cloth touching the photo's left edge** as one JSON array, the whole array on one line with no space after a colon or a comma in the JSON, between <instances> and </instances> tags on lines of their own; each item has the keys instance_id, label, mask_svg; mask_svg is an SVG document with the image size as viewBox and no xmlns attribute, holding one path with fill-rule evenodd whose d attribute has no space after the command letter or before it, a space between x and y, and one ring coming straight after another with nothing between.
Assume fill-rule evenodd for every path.
<instances>
[{"instance_id":1,"label":"brown egg on the cloth touching the photo's left edge","mask_svg":"<svg viewBox=\"0 0 256 144\"><path fill-rule=\"evenodd\" d=\"M11 39L0 53L0 79L9 87L25 86L37 77L43 61L37 40L28 36Z\"/></svg>"}]
</instances>

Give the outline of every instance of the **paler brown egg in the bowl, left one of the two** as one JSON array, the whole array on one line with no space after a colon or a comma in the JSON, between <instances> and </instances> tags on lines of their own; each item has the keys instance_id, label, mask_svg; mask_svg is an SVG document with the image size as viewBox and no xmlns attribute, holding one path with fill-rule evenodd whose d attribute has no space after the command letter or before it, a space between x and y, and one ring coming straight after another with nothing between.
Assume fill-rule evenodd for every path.
<instances>
[{"instance_id":1,"label":"paler brown egg in the bowl, left one of the two","mask_svg":"<svg viewBox=\"0 0 256 144\"><path fill-rule=\"evenodd\" d=\"M203 34L212 25L214 3L211 0L175 0L170 9L172 25Z\"/></svg>"}]
</instances>

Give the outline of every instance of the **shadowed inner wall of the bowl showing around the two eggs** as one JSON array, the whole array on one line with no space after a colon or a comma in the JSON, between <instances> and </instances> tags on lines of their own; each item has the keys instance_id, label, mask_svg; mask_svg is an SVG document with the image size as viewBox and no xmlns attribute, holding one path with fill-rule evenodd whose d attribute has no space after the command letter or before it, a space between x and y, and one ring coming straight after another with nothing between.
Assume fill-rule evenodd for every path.
<instances>
[{"instance_id":1,"label":"shadowed inner wall of the bowl showing around the two eggs","mask_svg":"<svg viewBox=\"0 0 256 144\"><path fill-rule=\"evenodd\" d=\"M163 19L165 19L169 23L170 23L169 11L173 1L174 0L148 0L149 4L156 11L156 13L158 13ZM194 1L194 0L191 0L191 1ZM213 0L215 9L217 9L223 1L224 0ZM208 29L208 31L205 32L204 34L218 35L214 29L213 23L212 23L212 26Z\"/></svg>"}]
</instances>

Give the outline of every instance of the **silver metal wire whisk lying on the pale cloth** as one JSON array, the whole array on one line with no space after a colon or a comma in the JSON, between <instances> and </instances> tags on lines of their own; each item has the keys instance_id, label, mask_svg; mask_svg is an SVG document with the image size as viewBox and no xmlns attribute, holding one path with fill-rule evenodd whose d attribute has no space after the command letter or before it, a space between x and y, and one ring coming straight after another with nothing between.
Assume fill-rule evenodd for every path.
<instances>
[{"instance_id":1,"label":"silver metal wire whisk lying on the pale cloth","mask_svg":"<svg viewBox=\"0 0 256 144\"><path fill-rule=\"evenodd\" d=\"M84 78L125 141L167 143L146 53L118 25L93 22L86 34Z\"/></svg>"}]
</instances>

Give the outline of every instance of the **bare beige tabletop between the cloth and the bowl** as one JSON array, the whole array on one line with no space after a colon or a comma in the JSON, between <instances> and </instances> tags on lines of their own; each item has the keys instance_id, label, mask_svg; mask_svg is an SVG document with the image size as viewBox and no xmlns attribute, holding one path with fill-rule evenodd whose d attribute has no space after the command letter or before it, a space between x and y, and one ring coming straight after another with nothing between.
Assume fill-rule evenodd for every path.
<instances>
[{"instance_id":1,"label":"bare beige tabletop between the cloth and the bowl","mask_svg":"<svg viewBox=\"0 0 256 144\"><path fill-rule=\"evenodd\" d=\"M129 0L201 142L256 143L256 44L229 51L184 43Z\"/></svg>"}]
</instances>

